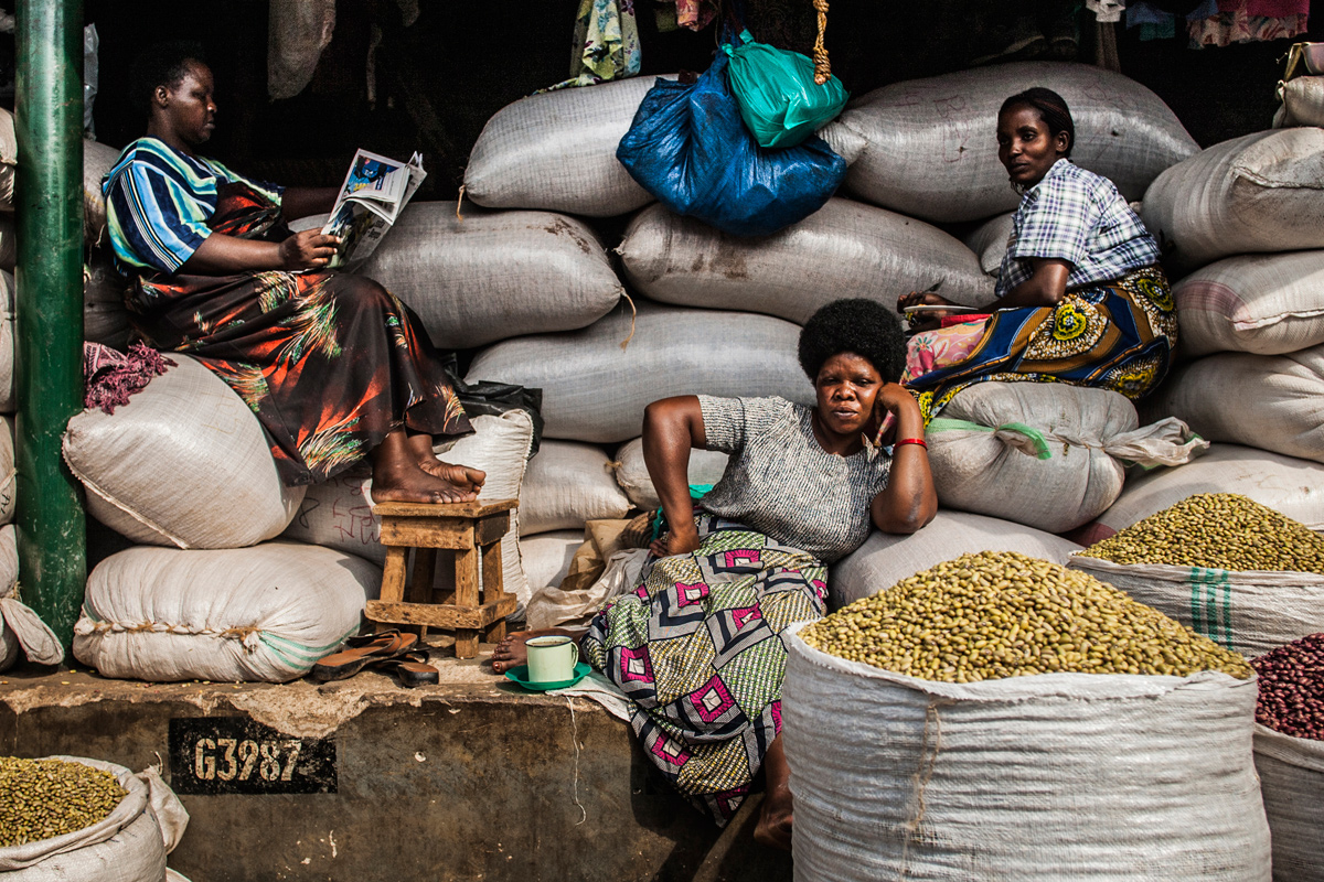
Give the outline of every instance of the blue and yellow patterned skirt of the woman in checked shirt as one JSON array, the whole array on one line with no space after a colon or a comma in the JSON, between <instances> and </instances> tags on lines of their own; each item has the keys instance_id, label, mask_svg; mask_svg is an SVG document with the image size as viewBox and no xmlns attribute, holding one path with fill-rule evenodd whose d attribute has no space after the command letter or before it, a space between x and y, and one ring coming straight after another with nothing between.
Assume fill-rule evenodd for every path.
<instances>
[{"instance_id":1,"label":"blue and yellow patterned skirt of the woman in checked shirt","mask_svg":"<svg viewBox=\"0 0 1324 882\"><path fill-rule=\"evenodd\" d=\"M968 333L963 325L951 331ZM1064 382L1135 399L1166 376L1176 346L1172 290L1162 270L1149 266L1071 291L1055 307L998 309L959 361L904 385L925 423L963 389L986 381Z\"/></svg>"}]
</instances>

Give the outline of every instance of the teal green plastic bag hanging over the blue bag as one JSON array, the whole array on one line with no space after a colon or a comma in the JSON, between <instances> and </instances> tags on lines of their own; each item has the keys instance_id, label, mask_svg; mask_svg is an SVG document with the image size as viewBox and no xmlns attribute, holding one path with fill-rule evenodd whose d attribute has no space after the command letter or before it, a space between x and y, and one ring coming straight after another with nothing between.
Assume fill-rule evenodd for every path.
<instances>
[{"instance_id":1,"label":"teal green plastic bag hanging over the blue bag","mask_svg":"<svg viewBox=\"0 0 1324 882\"><path fill-rule=\"evenodd\" d=\"M808 56L755 42L748 30L740 44L722 44L722 52L731 57L727 77L740 116L760 147L794 147L846 106L846 87L835 77L816 83Z\"/></svg>"}]
</instances>

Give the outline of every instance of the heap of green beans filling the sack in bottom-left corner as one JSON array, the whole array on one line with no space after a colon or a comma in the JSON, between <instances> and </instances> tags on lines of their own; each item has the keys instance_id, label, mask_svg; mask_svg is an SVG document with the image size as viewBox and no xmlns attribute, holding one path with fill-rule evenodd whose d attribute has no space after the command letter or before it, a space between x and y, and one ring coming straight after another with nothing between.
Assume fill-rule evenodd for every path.
<instances>
[{"instance_id":1,"label":"heap of green beans filling the sack in bottom-left corner","mask_svg":"<svg viewBox=\"0 0 1324 882\"><path fill-rule=\"evenodd\" d=\"M91 826L127 791L110 772L82 763L0 756L0 848L11 848Z\"/></svg>"}]
</instances>

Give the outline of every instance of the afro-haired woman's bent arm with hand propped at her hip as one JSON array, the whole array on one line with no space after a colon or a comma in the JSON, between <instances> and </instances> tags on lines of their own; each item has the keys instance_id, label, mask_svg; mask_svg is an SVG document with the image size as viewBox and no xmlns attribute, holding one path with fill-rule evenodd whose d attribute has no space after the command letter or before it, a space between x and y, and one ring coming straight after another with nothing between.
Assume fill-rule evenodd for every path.
<instances>
[{"instance_id":1,"label":"afro-haired woman's bent arm with hand propped at her hip","mask_svg":"<svg viewBox=\"0 0 1324 882\"><path fill-rule=\"evenodd\" d=\"M707 443L696 395L663 398L645 409L643 463L671 528L665 545L662 540L653 543L658 557L687 554L699 547L690 501L690 450L706 448Z\"/></svg>"}]
</instances>

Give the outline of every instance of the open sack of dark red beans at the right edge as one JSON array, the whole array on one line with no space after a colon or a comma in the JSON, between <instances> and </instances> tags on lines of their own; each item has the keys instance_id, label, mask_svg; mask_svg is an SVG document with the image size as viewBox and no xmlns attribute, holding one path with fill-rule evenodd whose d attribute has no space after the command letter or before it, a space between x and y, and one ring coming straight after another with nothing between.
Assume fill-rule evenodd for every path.
<instances>
[{"instance_id":1,"label":"open sack of dark red beans at the right edge","mask_svg":"<svg viewBox=\"0 0 1324 882\"><path fill-rule=\"evenodd\" d=\"M1324 633L1251 661L1259 676L1255 771L1274 878L1324 882Z\"/></svg>"}]
</instances>

